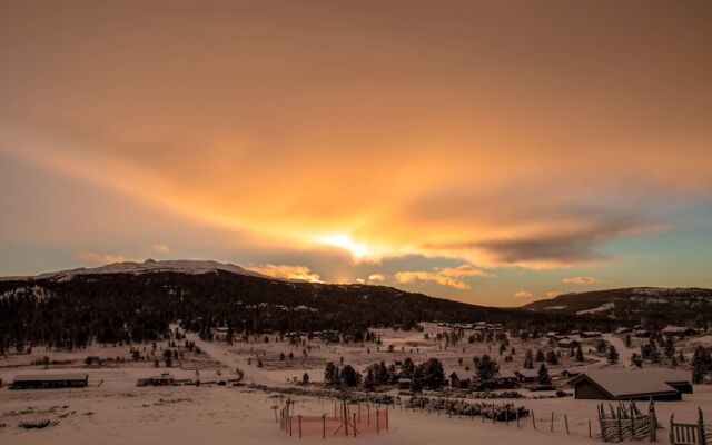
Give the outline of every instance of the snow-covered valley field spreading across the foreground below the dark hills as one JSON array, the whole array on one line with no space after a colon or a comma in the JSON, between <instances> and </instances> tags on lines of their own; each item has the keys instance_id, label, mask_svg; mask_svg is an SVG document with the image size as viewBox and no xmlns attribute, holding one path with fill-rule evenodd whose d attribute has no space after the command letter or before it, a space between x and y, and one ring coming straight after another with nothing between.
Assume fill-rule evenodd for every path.
<instances>
[{"instance_id":1,"label":"snow-covered valley field spreading across the foreground below the dark hills","mask_svg":"<svg viewBox=\"0 0 712 445\"><path fill-rule=\"evenodd\" d=\"M10 390L0 388L0 443L30 444L52 443L56 445L96 444L98 437L106 444L156 444L171 443L177 445L196 444L209 437L211 444L279 444L298 442L297 437L289 437L275 423L274 406L284 403L287 396L253 390L247 387L231 386L171 386L171 387L137 387L138 378L169 372L176 378L192 379L199 377L201 382L236 378L236 368L245 372L245 383L267 386L294 387L294 378L301 379L307 373L312 383L323 379L324 366L327 362L350 364L358 370L364 370L369 364L385 360L387 364L411 356L415 362L429 357L443 360L446 374L452 370L472 369L472 357L491 354L502 365L502 370L518 368L523 362L525 350L548 348L545 339L527 342L513 340L515 358L512 363L504 363L498 355L496 345L468 344L466 340L445 348L443 342L434 336L443 328L426 325L429 339L424 333L376 330L382 335L383 344L373 343L352 345L326 345L318 340L309 342L312 346L308 356L303 354L304 345L293 346L288 342L275 342L270 338L265 343L256 338L249 343L227 345L224 342L201 342L195 335L188 335L201 349L200 354L185 352L181 360L174 363L174 367L154 367L152 360L134 362L130 359L128 347L92 346L80 352L47 352L36 350L30 355L9 356L0 360L0 377L7 384L16 374L22 373L67 373L86 372L89 374L89 387L77 389L29 389ZM627 365L632 352L639 350L640 340L625 348L620 338L606 336L621 352L619 368ZM181 344L182 342L177 342ZM388 346L393 345L389 352ZM593 340L584 343L587 367L606 367L603 355L594 353ZM144 352L150 350L150 345L141 345ZM681 343L683 350L691 346ZM161 355L166 343L157 345L156 356ZM492 350L491 350L492 348ZM593 349L589 353L589 349ZM293 359L279 359L279 354L293 353ZM44 355L55 363L44 370L42 365L33 364ZM87 367L85 358L89 355L112 360L105 360L100 367ZM459 365L458 359L463 358ZM118 358L123 358L120 360ZM257 367L257 360L263 362ZM574 364L573 358L563 354L562 364L550 366L554 375L556 369ZM472 374L472 370L466 372ZM312 385L314 386L314 385ZM526 390L520 390L531 395ZM393 392L395 394L395 392ZM537 393L541 394L541 393ZM297 396L295 414L320 415L333 412L333 402L319 400L316 397ZM488 400L496 404L505 399ZM497 423L482 422L479 417L457 418L435 413L419 413L403 411L396 405L390 409L390 427L386 434L363 437L366 443L384 444L438 444L448 439L493 443L493 444L572 444L600 442L596 424L595 400L575 400L572 397L546 399L514 399L510 400L533 411L536 419L534 431L532 418L523 418L520 427L512 422L508 426ZM645 408L645 403L639 403ZM712 387L695 386L695 393L685 394L683 402L657 403L656 413L660 422L665 426L670 415L674 412L679 421L694 421L696 409L701 407L712 416ZM551 418L554 414L553 432ZM568 422L570 434L565 432L565 418ZM43 429L22 429L18 423L24 421L50 419L52 426ZM589 422L591 421L593 438L589 438ZM661 443L668 443L666 429L659 432ZM333 438L336 439L336 438ZM342 441L346 438L339 438ZM353 438L350 438L353 439ZM306 443L323 443L323 439L303 439Z\"/></svg>"}]
</instances>

